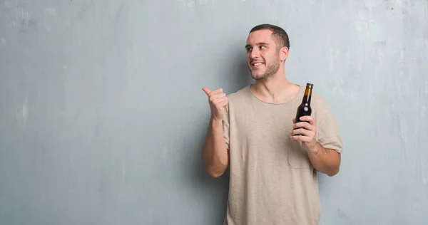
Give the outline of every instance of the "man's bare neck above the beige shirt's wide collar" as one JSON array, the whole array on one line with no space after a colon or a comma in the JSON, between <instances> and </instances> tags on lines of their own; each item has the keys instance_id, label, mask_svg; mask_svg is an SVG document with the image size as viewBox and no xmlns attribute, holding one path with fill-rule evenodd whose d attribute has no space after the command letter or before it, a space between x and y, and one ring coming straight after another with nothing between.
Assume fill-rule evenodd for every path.
<instances>
[{"instance_id":1,"label":"man's bare neck above the beige shirt's wide collar","mask_svg":"<svg viewBox=\"0 0 428 225\"><path fill-rule=\"evenodd\" d=\"M286 103L295 98L300 87L288 81L284 74L275 74L265 80L256 80L250 89L267 103Z\"/></svg>"}]
</instances>

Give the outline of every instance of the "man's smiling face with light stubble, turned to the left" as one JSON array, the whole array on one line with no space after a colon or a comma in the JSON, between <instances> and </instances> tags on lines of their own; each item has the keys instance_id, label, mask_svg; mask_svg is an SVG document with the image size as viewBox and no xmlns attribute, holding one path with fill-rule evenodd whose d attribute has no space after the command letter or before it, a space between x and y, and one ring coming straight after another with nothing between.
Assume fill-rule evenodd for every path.
<instances>
[{"instance_id":1,"label":"man's smiling face with light stubble, turned to the left","mask_svg":"<svg viewBox=\"0 0 428 225\"><path fill-rule=\"evenodd\" d=\"M247 63L251 77L263 80L274 75L280 68L280 51L273 40L272 31L254 31L248 35Z\"/></svg>"}]
</instances>

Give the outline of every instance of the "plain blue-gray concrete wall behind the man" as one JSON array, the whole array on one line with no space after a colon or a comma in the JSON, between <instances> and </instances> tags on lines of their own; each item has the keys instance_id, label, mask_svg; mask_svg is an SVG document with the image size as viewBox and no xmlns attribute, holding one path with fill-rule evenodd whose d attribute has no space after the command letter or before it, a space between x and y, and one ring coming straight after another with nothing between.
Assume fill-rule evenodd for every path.
<instances>
[{"instance_id":1,"label":"plain blue-gray concrete wall behind the man","mask_svg":"<svg viewBox=\"0 0 428 225\"><path fill-rule=\"evenodd\" d=\"M0 224L221 224L201 88L252 82L245 39L266 22L345 142L321 224L426 224L422 0L0 0Z\"/></svg>"}]
</instances>

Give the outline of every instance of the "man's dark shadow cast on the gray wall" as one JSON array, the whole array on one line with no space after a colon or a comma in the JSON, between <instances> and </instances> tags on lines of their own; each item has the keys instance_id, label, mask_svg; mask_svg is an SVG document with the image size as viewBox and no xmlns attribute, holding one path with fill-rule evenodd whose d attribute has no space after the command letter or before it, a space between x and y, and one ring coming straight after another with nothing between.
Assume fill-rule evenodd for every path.
<instances>
[{"instance_id":1,"label":"man's dark shadow cast on the gray wall","mask_svg":"<svg viewBox=\"0 0 428 225\"><path fill-rule=\"evenodd\" d=\"M227 73L219 73L218 75L224 80L223 89L225 93L233 93L243 86L251 82L251 77L248 73L248 66L245 60L245 52L237 48L232 60L227 61ZM198 90L199 91L199 90ZM209 108L208 102L200 108ZM198 192L202 192L204 202L203 211L207 211L208 219L213 224L223 224L225 210L228 202L228 187L229 187L229 169L225 171L223 176L218 178L210 177L205 169L202 159L202 147L205 142L205 135L208 132L208 122L210 120L210 113L202 117L195 118L194 125L190 132L188 132L188 143L193 143L190 146L189 154L192 156L188 164L189 173L191 174L191 184ZM212 216L212 217L211 217Z\"/></svg>"}]
</instances>

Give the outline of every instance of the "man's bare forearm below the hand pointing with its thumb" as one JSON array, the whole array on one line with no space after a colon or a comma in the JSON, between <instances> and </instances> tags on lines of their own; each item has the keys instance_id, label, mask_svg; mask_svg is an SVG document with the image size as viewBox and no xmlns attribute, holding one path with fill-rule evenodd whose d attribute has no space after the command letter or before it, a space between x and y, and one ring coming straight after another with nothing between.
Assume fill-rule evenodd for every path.
<instances>
[{"instance_id":1,"label":"man's bare forearm below the hand pointing with its thumb","mask_svg":"<svg viewBox=\"0 0 428 225\"><path fill-rule=\"evenodd\" d=\"M223 136L222 120L210 120L210 127L203 145L203 161L211 177L220 177L228 168L229 154Z\"/></svg>"}]
</instances>

